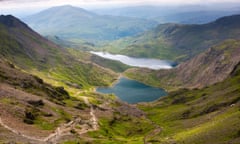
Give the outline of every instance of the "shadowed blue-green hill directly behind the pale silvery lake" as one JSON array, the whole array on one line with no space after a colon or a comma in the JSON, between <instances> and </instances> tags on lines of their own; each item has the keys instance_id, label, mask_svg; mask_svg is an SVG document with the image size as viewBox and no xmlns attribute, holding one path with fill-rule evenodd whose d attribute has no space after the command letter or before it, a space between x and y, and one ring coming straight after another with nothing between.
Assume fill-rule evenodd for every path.
<instances>
[{"instance_id":1,"label":"shadowed blue-green hill directly behind the pale silvery lake","mask_svg":"<svg viewBox=\"0 0 240 144\"><path fill-rule=\"evenodd\" d=\"M240 39L239 23L240 15L233 15L202 25L162 24L103 49L135 57L185 61L223 40Z\"/></svg>"}]
</instances>

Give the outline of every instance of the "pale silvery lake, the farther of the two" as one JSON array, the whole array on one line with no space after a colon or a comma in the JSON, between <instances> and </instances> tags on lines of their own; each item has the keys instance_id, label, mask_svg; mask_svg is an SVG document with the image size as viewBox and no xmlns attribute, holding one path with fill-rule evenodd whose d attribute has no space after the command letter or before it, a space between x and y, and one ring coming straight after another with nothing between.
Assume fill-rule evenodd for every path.
<instances>
[{"instance_id":1,"label":"pale silvery lake, the farther of the two","mask_svg":"<svg viewBox=\"0 0 240 144\"><path fill-rule=\"evenodd\" d=\"M92 54L98 55L100 57L117 60L129 66L143 67L149 69L171 69L177 65L176 62L168 60L150 59L150 58L134 58L125 55L113 55L107 52L93 52Z\"/></svg>"}]
</instances>

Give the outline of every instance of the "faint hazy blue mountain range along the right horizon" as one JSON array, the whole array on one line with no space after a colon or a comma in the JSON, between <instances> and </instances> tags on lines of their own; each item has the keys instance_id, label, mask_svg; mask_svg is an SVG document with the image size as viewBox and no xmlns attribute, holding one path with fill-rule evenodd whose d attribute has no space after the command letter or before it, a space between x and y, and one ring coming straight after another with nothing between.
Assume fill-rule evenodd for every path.
<instances>
[{"instance_id":1,"label":"faint hazy blue mountain range along the right horizon","mask_svg":"<svg viewBox=\"0 0 240 144\"><path fill-rule=\"evenodd\" d=\"M240 10L238 4L220 4L205 6L132 6L98 9L95 12L98 14L151 19L159 23L203 24L223 16L239 14Z\"/></svg>"}]
</instances>

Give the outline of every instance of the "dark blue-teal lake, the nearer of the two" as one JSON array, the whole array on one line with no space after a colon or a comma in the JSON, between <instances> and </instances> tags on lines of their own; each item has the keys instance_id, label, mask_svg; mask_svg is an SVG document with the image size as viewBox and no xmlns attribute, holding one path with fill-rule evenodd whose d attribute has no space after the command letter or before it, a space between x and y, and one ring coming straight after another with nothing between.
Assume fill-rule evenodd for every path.
<instances>
[{"instance_id":1,"label":"dark blue-teal lake, the nearer of the two","mask_svg":"<svg viewBox=\"0 0 240 144\"><path fill-rule=\"evenodd\" d=\"M160 88L151 87L135 80L120 78L113 87L97 88L97 92L115 94L122 101L134 104L151 102L167 93Z\"/></svg>"}]
</instances>

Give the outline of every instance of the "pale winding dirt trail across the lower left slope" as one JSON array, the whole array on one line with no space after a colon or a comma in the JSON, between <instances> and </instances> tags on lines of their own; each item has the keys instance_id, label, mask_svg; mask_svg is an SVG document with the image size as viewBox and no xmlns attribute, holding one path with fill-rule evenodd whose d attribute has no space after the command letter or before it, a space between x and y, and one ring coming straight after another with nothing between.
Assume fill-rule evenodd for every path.
<instances>
[{"instance_id":1,"label":"pale winding dirt trail across the lower left slope","mask_svg":"<svg viewBox=\"0 0 240 144\"><path fill-rule=\"evenodd\" d=\"M27 136L22 134L20 131L17 131L14 128L9 127L8 125L6 125L1 117L0 117L0 125L2 125L4 128L8 129L9 131L22 136L24 138L27 138L29 140L33 140L33 141L37 141L37 142L43 142L43 143L47 143L47 142L51 142L51 143L57 143L57 140L60 139L62 136L64 135L69 135L71 134L72 130L75 130L79 135L87 133L89 131L95 131L98 129L98 119L96 117L96 115L94 114L94 108L93 106L89 103L88 98L87 97L82 97L84 102L90 107L90 116L91 118L88 120L89 121L89 126L83 125L82 129L76 129L75 126L79 125L81 118L76 118L73 121L70 121L67 124L63 124L62 126L58 127L54 133L49 134L47 137L45 138L37 138L37 137L33 137L33 136Z\"/></svg>"}]
</instances>

